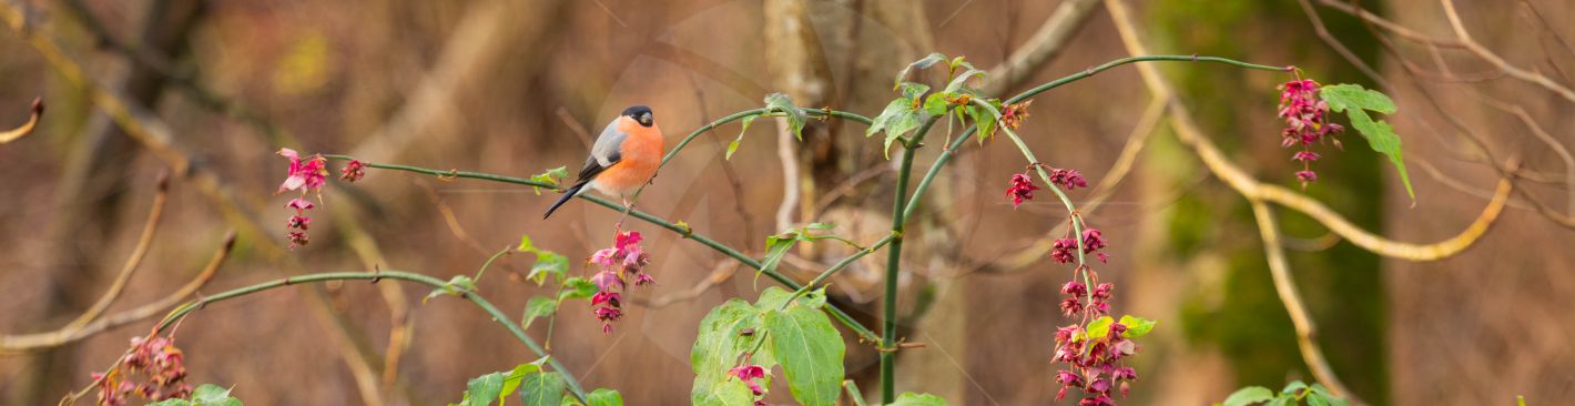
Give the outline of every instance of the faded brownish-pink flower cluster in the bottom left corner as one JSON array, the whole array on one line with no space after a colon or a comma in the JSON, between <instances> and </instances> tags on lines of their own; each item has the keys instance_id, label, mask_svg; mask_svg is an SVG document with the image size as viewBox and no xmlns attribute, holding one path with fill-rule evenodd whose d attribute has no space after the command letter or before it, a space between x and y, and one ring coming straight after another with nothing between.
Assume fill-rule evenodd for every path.
<instances>
[{"instance_id":1,"label":"faded brownish-pink flower cluster in the bottom left corner","mask_svg":"<svg viewBox=\"0 0 1575 406\"><path fill-rule=\"evenodd\" d=\"M132 376L146 376L137 382ZM131 351L120 365L109 373L93 373L98 387L98 404L120 406L131 400L131 395L148 401L170 398L191 398L192 387L186 384L186 356L175 348L170 337L134 337Z\"/></svg>"}]
</instances>

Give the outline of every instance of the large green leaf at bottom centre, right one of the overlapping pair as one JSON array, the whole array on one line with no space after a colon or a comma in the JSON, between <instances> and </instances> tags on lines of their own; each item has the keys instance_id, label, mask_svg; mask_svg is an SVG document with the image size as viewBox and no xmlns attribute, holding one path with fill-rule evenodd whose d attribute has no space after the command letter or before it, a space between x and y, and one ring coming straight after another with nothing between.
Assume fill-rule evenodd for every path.
<instances>
[{"instance_id":1,"label":"large green leaf at bottom centre, right one of the overlapping pair","mask_svg":"<svg viewBox=\"0 0 1575 406\"><path fill-rule=\"evenodd\" d=\"M846 349L832 318L816 308L789 305L765 312L765 329L792 397L806 406L836 404Z\"/></svg>"}]
</instances>

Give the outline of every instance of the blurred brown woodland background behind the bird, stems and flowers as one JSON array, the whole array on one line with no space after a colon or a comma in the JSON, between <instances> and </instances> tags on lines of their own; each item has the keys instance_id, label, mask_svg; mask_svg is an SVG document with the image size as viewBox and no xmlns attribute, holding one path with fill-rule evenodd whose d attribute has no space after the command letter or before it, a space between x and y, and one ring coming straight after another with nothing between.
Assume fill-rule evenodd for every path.
<instances>
[{"instance_id":1,"label":"blurred brown woodland background behind the bird, stems and flowers","mask_svg":"<svg viewBox=\"0 0 1575 406\"><path fill-rule=\"evenodd\" d=\"M887 83L907 61L943 52L997 66L1032 46L1063 6L1032 0L20 3L35 13L24 33L58 39L88 79L153 110L189 153L194 172L209 176L173 181L156 244L112 312L186 283L232 228L241 230L238 249L203 293L370 263L447 279L472 274L520 234L578 264L606 245L616 222L611 211L583 201L540 220L556 195L521 187L370 172L354 186L331 186L310 245L280 250L288 216L288 198L272 195L285 173L285 161L274 154L280 146L528 176L559 165L573 170L589 137L632 104L655 110L669 146L702 123L761 105L770 91L806 107L873 116L893 98ZM1090 11L1058 55L1021 80L992 77L1002 94L1128 55L1101 2L1080 3ZM1493 74L1493 65L1457 47L1435 54L1394 35L1381 41L1350 14L1310 3L1332 38L1372 65L1377 79L1320 39L1298 2L1132 6L1156 54L1296 65L1325 83L1358 82L1394 96L1400 113L1389 121L1405 140L1414 206L1389 164L1356 135L1345 137L1343 153L1325 154L1321 179L1307 190L1362 228L1408 242L1446 239L1487 205L1498 178L1490 164L1514 161L1542 173L1517 183L1523 192L1484 241L1433 263L1383 260L1282 209L1284 230L1301 247L1292 247L1292 269L1334 370L1375 404L1509 404L1515 395L1526 395L1528 404L1559 404L1575 397L1569 345L1575 252L1570 228L1551 219L1562 212L1567 220L1566 208L1575 205L1564 175L1570 167L1536 129L1501 109L1523 109L1547 138L1569 143L1575 102ZM1454 38L1436 2L1361 6ZM1569 42L1575 5L1457 6L1477 42L1558 85L1575 85L1567 74L1575 72ZM79 79L61 74L24 33L0 35L0 126L24 121L35 96L44 96L49 110L36 134L0 145L6 173L0 192L8 198L0 205L5 334L57 329L99 297L135 244L154 183L169 168L169 161L99 113ZM153 61L132 63L124 47ZM1392 52L1425 72L1406 72ZM1443 72L1440 61L1447 63ZM1279 148L1274 118L1274 85L1288 77L1197 65L1162 71L1238 165L1265 183L1293 186L1295 167ZM1021 132L1047 164L1079 168L1098 183L1148 101L1137 72L1120 68L1038 96ZM754 257L765 234L797 222L832 220L838 233L862 242L885 233L891 162L882 159L877 140L862 137L862 127L813 123L803 143L780 143L776 127L762 120L723 161L737 131L729 124L701 135L660 173L639 208L685 220ZM1469 137L1490 146L1474 148ZM1128 403L1206 404L1247 384L1310 381L1246 201L1211 178L1169 126L1147 140L1110 201L1085 214L1112 241L1114 258L1101 272L1120 286L1117 312L1159 319L1134 360L1142 381ZM928 346L899 356L899 390L937 393L954 404L1044 404L1055 393L1051 337L1065 323L1055 290L1069 272L1047 258L1027 264L1006 258L1065 222L1065 211L1043 197L1010 208L1000 190L1024 162L1002 142L969 143L914 219L920 231L906 252L902 332ZM937 151L926 149L917 170L928 170ZM799 189L797 206L780 206L789 195L780 151L789 151L797 170L789 183ZM222 186L213 189L205 179ZM1540 214L1537 205L1553 214ZM632 404L685 403L699 318L726 297L753 297L773 283L743 269L685 296L732 263L647 223L632 228L649 236L657 288L641 293L611 335L589 312L567 307L551 352L586 386L617 389ZM784 268L806 280L841 255L830 245L803 249ZM880 272L877 261L868 261L839 275L832 293L874 326ZM490 271L482 294L518 315L529 296L543 293L515 277L529 264L526 255L506 257L498 266L509 272ZM389 282L271 291L197 312L183 323L178 343L194 382L233 386L247 404L441 404L457 401L471 376L536 359L469 304L452 297L422 304L425 293ZM91 371L150 326L132 323L52 351L0 356L0 401L52 404L90 382ZM391 349L391 340L406 345ZM849 376L876 393L869 346L849 349ZM389 364L397 368L387 371ZM773 390L770 400L792 401L788 390Z\"/></svg>"}]
</instances>

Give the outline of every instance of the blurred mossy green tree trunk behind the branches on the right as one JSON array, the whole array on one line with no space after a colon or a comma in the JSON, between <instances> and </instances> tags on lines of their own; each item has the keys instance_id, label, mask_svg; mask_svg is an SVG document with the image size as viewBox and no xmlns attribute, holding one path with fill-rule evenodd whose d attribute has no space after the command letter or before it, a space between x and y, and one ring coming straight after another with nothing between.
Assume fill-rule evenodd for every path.
<instances>
[{"instance_id":1,"label":"blurred mossy green tree trunk behind the branches on the right","mask_svg":"<svg viewBox=\"0 0 1575 406\"><path fill-rule=\"evenodd\" d=\"M1156 50L1271 55L1265 57L1266 63L1296 63L1309 79L1320 83L1353 82L1372 87L1317 36L1295 2L1156 2L1151 6L1153 33L1164 44ZM1375 3L1364 6L1383 9ZM1331 14L1323 14L1323 19L1356 55L1372 60L1378 52L1377 41L1358 20ZM1262 42L1254 38L1262 38ZM1188 65L1164 69L1177 80L1180 96L1194 107L1199 123L1224 151L1240 157L1258 178L1293 187L1293 162L1279 148L1279 127L1251 126L1274 115L1279 101L1274 87L1293 77L1195 69ZM1235 88L1257 91L1221 91ZM1354 132L1340 137L1348 145L1362 145ZM1167 153L1177 151L1161 149L1151 154ZM1381 156L1367 148L1331 149L1320 164L1321 179L1309 186L1306 194L1350 216L1362 228L1381 228L1381 211L1372 208L1383 206L1383 176L1392 172L1381 165ZM1188 179L1178 176L1173 181ZM1298 376L1310 378L1304 367L1287 367L1303 365L1295 329L1285 305L1276 296L1247 203L1225 186L1210 181L1199 194L1181 197L1169 209L1169 216L1167 236L1177 258L1210 252L1224 255L1224 263L1228 264L1222 272L1222 286L1205 286L1184 301L1181 326L1188 340L1192 345L1214 346L1228 357L1240 386L1277 387ZM1303 216L1288 214L1280 220L1282 231L1292 239L1310 241L1328 233ZM1380 258L1350 244L1336 244L1314 253L1292 250L1290 261L1318 326L1317 340L1336 373L1361 398L1384 403L1389 390L1388 354L1383 346L1373 345L1383 343L1386 334Z\"/></svg>"}]
</instances>

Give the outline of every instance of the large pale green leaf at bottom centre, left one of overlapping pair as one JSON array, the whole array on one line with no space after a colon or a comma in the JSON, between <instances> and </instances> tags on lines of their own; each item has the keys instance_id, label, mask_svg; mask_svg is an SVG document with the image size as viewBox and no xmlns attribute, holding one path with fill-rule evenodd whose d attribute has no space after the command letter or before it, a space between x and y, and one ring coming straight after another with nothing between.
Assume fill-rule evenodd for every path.
<instances>
[{"instance_id":1,"label":"large pale green leaf at bottom centre, left one of overlapping pair","mask_svg":"<svg viewBox=\"0 0 1575 406\"><path fill-rule=\"evenodd\" d=\"M751 401L748 387L737 379L728 379L728 370L737 367L739 354L756 348L764 335L767 335L765 326L754 305L729 299L712 308L699 321L699 335L695 337L695 346L690 349L690 368L695 371L690 401L695 404L739 404L731 403L731 400L737 400L737 393L743 393L742 398L748 404ZM776 365L776 359L770 346L761 345L759 351L750 357L750 364L772 368Z\"/></svg>"}]
</instances>

